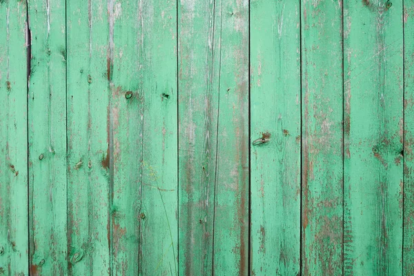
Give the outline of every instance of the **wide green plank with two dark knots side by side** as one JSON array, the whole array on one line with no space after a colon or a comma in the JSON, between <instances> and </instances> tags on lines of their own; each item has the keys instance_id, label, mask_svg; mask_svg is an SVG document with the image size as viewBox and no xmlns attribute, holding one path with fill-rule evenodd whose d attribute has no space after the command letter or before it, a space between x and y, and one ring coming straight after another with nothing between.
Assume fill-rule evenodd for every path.
<instances>
[{"instance_id":1,"label":"wide green plank with two dark knots side by side","mask_svg":"<svg viewBox=\"0 0 414 276\"><path fill-rule=\"evenodd\" d=\"M176 275L177 4L110 1L115 275Z\"/></svg>"}]
</instances>

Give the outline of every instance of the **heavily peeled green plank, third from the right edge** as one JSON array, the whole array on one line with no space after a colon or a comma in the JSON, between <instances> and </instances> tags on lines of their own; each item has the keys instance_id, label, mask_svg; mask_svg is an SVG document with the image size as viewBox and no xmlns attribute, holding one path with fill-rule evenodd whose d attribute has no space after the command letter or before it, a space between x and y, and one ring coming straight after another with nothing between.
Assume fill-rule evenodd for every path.
<instances>
[{"instance_id":1,"label":"heavily peeled green plank, third from the right edge","mask_svg":"<svg viewBox=\"0 0 414 276\"><path fill-rule=\"evenodd\" d=\"M342 274L342 1L302 1L302 273Z\"/></svg>"}]
</instances>

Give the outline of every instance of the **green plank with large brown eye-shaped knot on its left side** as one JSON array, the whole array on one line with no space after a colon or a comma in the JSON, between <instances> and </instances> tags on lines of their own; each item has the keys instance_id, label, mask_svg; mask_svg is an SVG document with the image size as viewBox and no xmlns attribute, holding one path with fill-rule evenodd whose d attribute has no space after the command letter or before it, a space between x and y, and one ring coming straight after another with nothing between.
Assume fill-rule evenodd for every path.
<instances>
[{"instance_id":1,"label":"green plank with large brown eye-shaped knot on its left side","mask_svg":"<svg viewBox=\"0 0 414 276\"><path fill-rule=\"evenodd\" d=\"M250 1L252 275L300 270L299 3Z\"/></svg>"}]
</instances>

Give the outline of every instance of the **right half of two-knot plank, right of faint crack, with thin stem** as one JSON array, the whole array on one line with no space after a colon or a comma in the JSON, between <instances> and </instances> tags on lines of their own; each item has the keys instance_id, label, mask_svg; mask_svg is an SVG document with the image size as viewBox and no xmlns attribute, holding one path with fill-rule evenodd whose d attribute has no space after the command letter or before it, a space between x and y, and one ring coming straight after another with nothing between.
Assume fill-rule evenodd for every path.
<instances>
[{"instance_id":1,"label":"right half of two-knot plank, right of faint crack, with thin stem","mask_svg":"<svg viewBox=\"0 0 414 276\"><path fill-rule=\"evenodd\" d=\"M178 274L177 1L140 2L142 275Z\"/></svg>"}]
</instances>

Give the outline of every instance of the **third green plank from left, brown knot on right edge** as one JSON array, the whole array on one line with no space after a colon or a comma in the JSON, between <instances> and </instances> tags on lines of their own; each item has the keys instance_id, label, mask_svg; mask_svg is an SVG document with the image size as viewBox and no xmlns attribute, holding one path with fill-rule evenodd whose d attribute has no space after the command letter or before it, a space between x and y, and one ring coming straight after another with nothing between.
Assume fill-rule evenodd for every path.
<instances>
[{"instance_id":1,"label":"third green plank from left, brown knot on right edge","mask_svg":"<svg viewBox=\"0 0 414 276\"><path fill-rule=\"evenodd\" d=\"M68 271L110 273L107 3L66 3Z\"/></svg>"}]
</instances>

